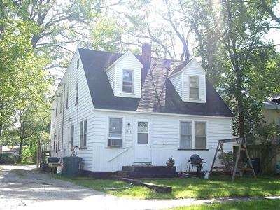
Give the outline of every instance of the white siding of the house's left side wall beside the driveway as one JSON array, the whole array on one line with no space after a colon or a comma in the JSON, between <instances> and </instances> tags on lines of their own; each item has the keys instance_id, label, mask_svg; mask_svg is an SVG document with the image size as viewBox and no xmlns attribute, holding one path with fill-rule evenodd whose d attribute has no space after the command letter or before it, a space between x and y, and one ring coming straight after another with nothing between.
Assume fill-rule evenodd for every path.
<instances>
[{"instance_id":1,"label":"white siding of the house's left side wall beside the driveway","mask_svg":"<svg viewBox=\"0 0 280 210\"><path fill-rule=\"evenodd\" d=\"M93 133L94 127L93 118L94 118L94 106L92 103L92 98L90 95L90 90L87 85L87 80L85 78L85 71L83 69L83 62L80 59L79 66L77 69L77 62L80 59L78 50L75 52L75 55L71 59L69 67L67 68L64 76L61 80L62 83L67 84L69 90L69 99L68 99L68 109L64 111L64 130L67 131L67 127L74 126L73 130L73 146L71 146L71 141L69 136L71 133L64 132L60 137L60 151L55 151L52 149L51 155L53 157L61 157L71 155L71 148L77 148L76 154L78 157L83 158L82 167L84 170L92 169L92 158L94 157L93 149ZM76 104L76 83L78 83L78 104ZM59 85L55 94L59 95L63 93L63 86ZM66 94L66 91L65 91ZM66 96L65 96L66 97ZM62 103L63 104L63 103ZM76 104L76 106L75 106ZM66 99L65 105L66 106ZM62 114L59 114L55 117L55 102L52 103L52 119L51 119L51 132L56 132L58 130L62 131ZM58 110L59 111L59 110ZM86 137L86 149L80 149L80 121L87 119L87 137ZM71 132L71 129L70 129ZM105 132L106 134L106 132ZM62 140L63 139L63 140ZM51 144L53 144L54 139L52 139ZM63 146L62 146L63 142ZM55 142L57 144L57 141ZM62 154L63 153L63 154Z\"/></svg>"}]
</instances>

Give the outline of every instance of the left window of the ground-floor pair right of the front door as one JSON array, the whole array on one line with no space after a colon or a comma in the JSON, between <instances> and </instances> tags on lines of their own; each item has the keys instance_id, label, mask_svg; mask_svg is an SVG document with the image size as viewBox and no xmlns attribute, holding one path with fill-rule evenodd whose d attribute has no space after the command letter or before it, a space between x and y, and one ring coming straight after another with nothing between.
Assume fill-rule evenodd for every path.
<instances>
[{"instance_id":1,"label":"left window of the ground-floor pair right of the front door","mask_svg":"<svg viewBox=\"0 0 280 210\"><path fill-rule=\"evenodd\" d=\"M180 122L180 148L192 148L192 123Z\"/></svg>"}]
</instances>

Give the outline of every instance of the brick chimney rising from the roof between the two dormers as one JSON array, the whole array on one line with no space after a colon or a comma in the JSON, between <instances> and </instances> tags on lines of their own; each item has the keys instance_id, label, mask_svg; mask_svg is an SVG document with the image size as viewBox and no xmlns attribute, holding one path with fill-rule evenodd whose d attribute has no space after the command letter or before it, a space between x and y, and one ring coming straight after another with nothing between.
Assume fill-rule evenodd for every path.
<instances>
[{"instance_id":1,"label":"brick chimney rising from the roof between the two dormers","mask_svg":"<svg viewBox=\"0 0 280 210\"><path fill-rule=\"evenodd\" d=\"M145 78L151 66L151 56L152 56L151 54L152 54L151 44L144 43L144 45L142 45L142 55L141 55L142 63L144 65L142 69L142 78L141 78L142 87L144 85Z\"/></svg>"}]
</instances>

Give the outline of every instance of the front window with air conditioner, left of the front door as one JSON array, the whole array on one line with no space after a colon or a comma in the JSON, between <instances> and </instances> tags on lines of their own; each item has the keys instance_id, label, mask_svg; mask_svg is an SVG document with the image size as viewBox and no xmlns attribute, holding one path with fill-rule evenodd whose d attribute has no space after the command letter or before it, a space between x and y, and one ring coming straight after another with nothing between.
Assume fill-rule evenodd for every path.
<instances>
[{"instance_id":1,"label":"front window with air conditioner, left of the front door","mask_svg":"<svg viewBox=\"0 0 280 210\"><path fill-rule=\"evenodd\" d=\"M109 118L109 143L108 146L123 146L123 119Z\"/></svg>"}]
</instances>

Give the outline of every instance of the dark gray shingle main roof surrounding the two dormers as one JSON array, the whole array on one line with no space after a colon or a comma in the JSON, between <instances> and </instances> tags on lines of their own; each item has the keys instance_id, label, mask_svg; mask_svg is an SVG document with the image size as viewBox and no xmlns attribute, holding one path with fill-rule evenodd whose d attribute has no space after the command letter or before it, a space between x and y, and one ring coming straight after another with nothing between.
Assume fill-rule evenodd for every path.
<instances>
[{"instance_id":1,"label":"dark gray shingle main roof surrounding the two dormers","mask_svg":"<svg viewBox=\"0 0 280 210\"><path fill-rule=\"evenodd\" d=\"M148 71L142 87L141 99L116 97L104 69L122 54L82 48L78 48L78 50L92 101L97 109L232 117L232 111L208 81L206 84L206 103L183 102L181 100L167 78L167 75L180 65L180 62L152 58L151 69L153 69L155 87L152 83L151 71ZM136 57L142 62L141 56L136 55ZM159 97L156 97L156 94ZM158 102L158 98L160 102Z\"/></svg>"}]
</instances>

